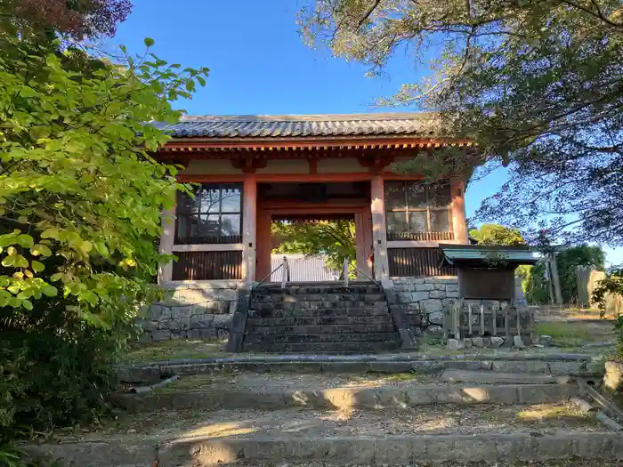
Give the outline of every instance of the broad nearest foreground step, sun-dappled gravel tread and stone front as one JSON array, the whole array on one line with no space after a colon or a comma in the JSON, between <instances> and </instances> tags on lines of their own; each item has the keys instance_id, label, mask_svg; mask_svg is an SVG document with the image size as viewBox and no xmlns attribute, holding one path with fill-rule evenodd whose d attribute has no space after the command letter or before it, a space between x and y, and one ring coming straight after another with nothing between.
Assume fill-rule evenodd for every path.
<instances>
[{"instance_id":1,"label":"broad nearest foreground step, sun-dappled gravel tread and stone front","mask_svg":"<svg viewBox=\"0 0 623 467\"><path fill-rule=\"evenodd\" d=\"M348 402L348 400L344 400ZM59 433L30 455L85 467L193 465L523 465L623 459L623 436L570 404L237 409L135 414L100 429ZM587 462L584 465L599 465Z\"/></svg>"}]
</instances>

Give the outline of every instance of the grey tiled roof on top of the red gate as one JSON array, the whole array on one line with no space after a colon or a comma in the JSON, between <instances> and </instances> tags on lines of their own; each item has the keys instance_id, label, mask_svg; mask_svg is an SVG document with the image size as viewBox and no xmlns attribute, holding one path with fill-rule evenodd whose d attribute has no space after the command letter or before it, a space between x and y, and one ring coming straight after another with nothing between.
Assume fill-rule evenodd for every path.
<instances>
[{"instance_id":1,"label":"grey tiled roof on top of the red gate","mask_svg":"<svg viewBox=\"0 0 623 467\"><path fill-rule=\"evenodd\" d=\"M344 115L186 116L156 124L174 137L283 138L435 135L434 114L424 112Z\"/></svg>"}]
</instances>

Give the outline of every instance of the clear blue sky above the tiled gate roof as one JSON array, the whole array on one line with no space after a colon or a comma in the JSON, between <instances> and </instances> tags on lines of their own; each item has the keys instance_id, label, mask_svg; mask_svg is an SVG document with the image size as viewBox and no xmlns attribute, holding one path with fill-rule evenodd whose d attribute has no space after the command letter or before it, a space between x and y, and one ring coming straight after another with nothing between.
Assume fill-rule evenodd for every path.
<instances>
[{"instance_id":1,"label":"clear blue sky above the tiled gate roof","mask_svg":"<svg viewBox=\"0 0 623 467\"><path fill-rule=\"evenodd\" d=\"M143 52L144 37L156 41L158 57L184 67L208 67L210 77L192 101L190 114L313 114L387 111L376 98L426 74L409 52L397 53L384 76L303 44L295 23L306 0L134 0L134 10L107 47L125 44ZM397 109L404 110L404 109ZM467 215L504 179L490 176L470 185ZM623 262L623 250L608 250Z\"/></svg>"}]
</instances>

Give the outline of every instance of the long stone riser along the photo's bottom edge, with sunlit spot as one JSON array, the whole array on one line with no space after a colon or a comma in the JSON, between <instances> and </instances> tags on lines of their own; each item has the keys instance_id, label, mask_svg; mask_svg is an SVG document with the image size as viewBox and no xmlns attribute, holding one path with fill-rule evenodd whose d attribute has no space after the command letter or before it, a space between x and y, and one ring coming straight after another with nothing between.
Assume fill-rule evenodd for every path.
<instances>
[{"instance_id":1,"label":"long stone riser along the photo's bottom edge, with sunlit spot","mask_svg":"<svg viewBox=\"0 0 623 467\"><path fill-rule=\"evenodd\" d=\"M190 465L206 467L236 463L301 463L321 461L345 465L401 465L431 462L546 462L568 459L623 459L619 433L562 433L530 436L526 433L306 438L295 436L210 439L138 439L114 442L76 442L28 446L32 457L63 458L89 467L135 465Z\"/></svg>"}]
</instances>

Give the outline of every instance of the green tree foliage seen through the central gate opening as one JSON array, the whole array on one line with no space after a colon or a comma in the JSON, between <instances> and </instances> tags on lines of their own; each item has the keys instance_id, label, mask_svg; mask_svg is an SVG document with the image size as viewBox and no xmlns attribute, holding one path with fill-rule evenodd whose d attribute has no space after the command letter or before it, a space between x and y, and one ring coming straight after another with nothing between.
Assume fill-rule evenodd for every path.
<instances>
[{"instance_id":1,"label":"green tree foliage seen through the central gate opening","mask_svg":"<svg viewBox=\"0 0 623 467\"><path fill-rule=\"evenodd\" d=\"M357 246L353 221L275 222L271 233L280 241L273 253L325 255L327 267L340 271L340 278L344 276L344 260L348 260L349 277L356 274Z\"/></svg>"}]
</instances>

